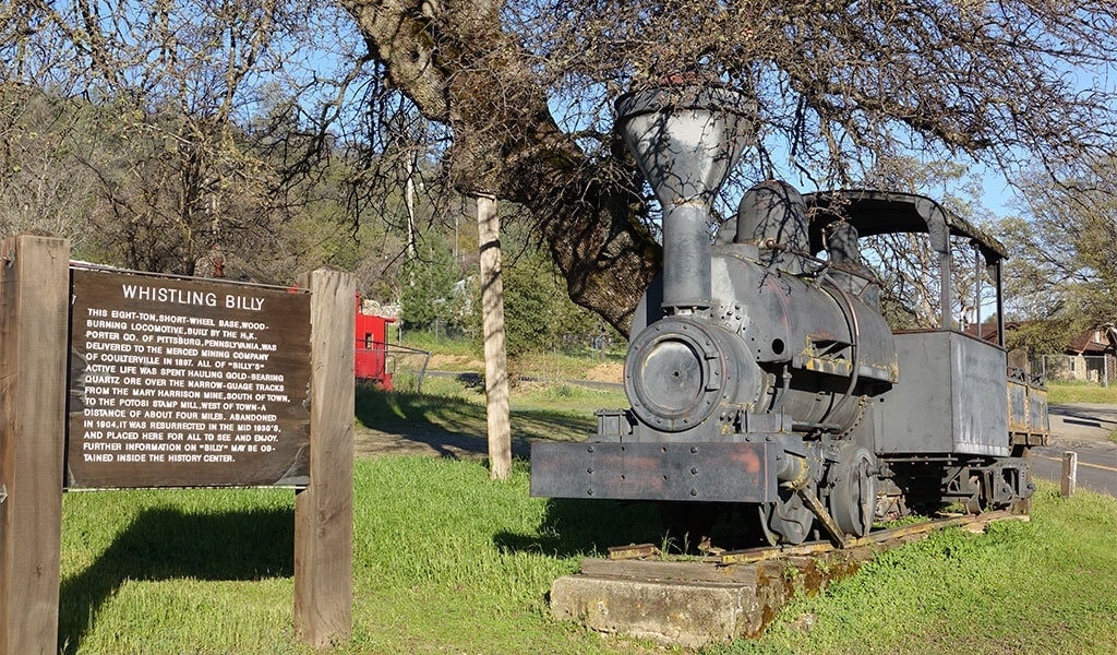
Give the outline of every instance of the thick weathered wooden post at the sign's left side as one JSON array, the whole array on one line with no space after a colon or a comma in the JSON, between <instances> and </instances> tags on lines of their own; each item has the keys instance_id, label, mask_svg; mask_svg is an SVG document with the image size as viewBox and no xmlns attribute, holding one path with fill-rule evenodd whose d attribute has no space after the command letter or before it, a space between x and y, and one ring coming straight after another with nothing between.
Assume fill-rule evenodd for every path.
<instances>
[{"instance_id":1,"label":"thick weathered wooden post at the sign's left side","mask_svg":"<svg viewBox=\"0 0 1117 655\"><path fill-rule=\"evenodd\" d=\"M0 655L57 652L69 243L0 251Z\"/></svg>"}]
</instances>

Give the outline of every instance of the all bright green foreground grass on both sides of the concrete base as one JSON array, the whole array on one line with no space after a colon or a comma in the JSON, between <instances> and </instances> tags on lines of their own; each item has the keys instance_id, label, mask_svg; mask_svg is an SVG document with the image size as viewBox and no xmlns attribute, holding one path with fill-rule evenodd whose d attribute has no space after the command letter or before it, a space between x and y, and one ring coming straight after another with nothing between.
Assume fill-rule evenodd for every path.
<instances>
[{"instance_id":1,"label":"all bright green foreground grass on both sides of the concrete base","mask_svg":"<svg viewBox=\"0 0 1117 655\"><path fill-rule=\"evenodd\" d=\"M547 611L551 581L656 541L647 506L532 499L527 468L359 461L353 638L342 654L648 653ZM293 632L293 493L68 494L60 634L75 654L308 653ZM880 556L781 614L747 653L1117 652L1117 501L1043 485L1030 523ZM806 632L795 625L809 618ZM668 649L670 651L670 649Z\"/></svg>"}]
</instances>

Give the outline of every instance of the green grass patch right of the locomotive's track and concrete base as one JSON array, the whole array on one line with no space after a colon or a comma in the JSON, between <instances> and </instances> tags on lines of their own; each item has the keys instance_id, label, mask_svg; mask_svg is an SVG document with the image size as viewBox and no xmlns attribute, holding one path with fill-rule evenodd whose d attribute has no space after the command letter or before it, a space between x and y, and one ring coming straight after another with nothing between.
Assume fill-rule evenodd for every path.
<instances>
[{"instance_id":1,"label":"green grass patch right of the locomotive's track and concrete base","mask_svg":"<svg viewBox=\"0 0 1117 655\"><path fill-rule=\"evenodd\" d=\"M1043 484L1031 523L949 530L881 554L786 607L764 639L712 652L1114 653L1115 528L1113 499L1061 499Z\"/></svg>"}]
</instances>

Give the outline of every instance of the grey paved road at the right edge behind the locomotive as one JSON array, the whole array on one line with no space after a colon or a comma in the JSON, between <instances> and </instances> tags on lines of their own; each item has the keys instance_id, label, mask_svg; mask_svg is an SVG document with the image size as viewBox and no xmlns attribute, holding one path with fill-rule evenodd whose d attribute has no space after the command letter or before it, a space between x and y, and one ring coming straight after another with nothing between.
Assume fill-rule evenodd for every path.
<instances>
[{"instance_id":1,"label":"grey paved road at the right edge behind the locomotive","mask_svg":"<svg viewBox=\"0 0 1117 655\"><path fill-rule=\"evenodd\" d=\"M1032 450L1032 472L1058 482L1062 454L1078 453L1078 487L1117 496L1117 444L1108 440L1117 428L1117 406L1052 405L1051 445Z\"/></svg>"}]
</instances>

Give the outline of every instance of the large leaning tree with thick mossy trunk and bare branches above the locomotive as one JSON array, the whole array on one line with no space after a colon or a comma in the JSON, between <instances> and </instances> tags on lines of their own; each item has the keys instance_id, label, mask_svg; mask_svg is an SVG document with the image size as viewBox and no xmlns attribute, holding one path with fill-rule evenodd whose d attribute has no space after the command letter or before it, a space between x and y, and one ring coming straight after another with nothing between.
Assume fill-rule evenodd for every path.
<instances>
[{"instance_id":1,"label":"large leaning tree with thick mossy trunk and bare branches above the locomotive","mask_svg":"<svg viewBox=\"0 0 1117 655\"><path fill-rule=\"evenodd\" d=\"M531 209L571 295L620 329L656 269L611 101L665 78L750 91L746 180L858 183L900 154L1021 167L1113 146L1109 2L341 0L388 83L450 127L459 186Z\"/></svg>"}]
</instances>

